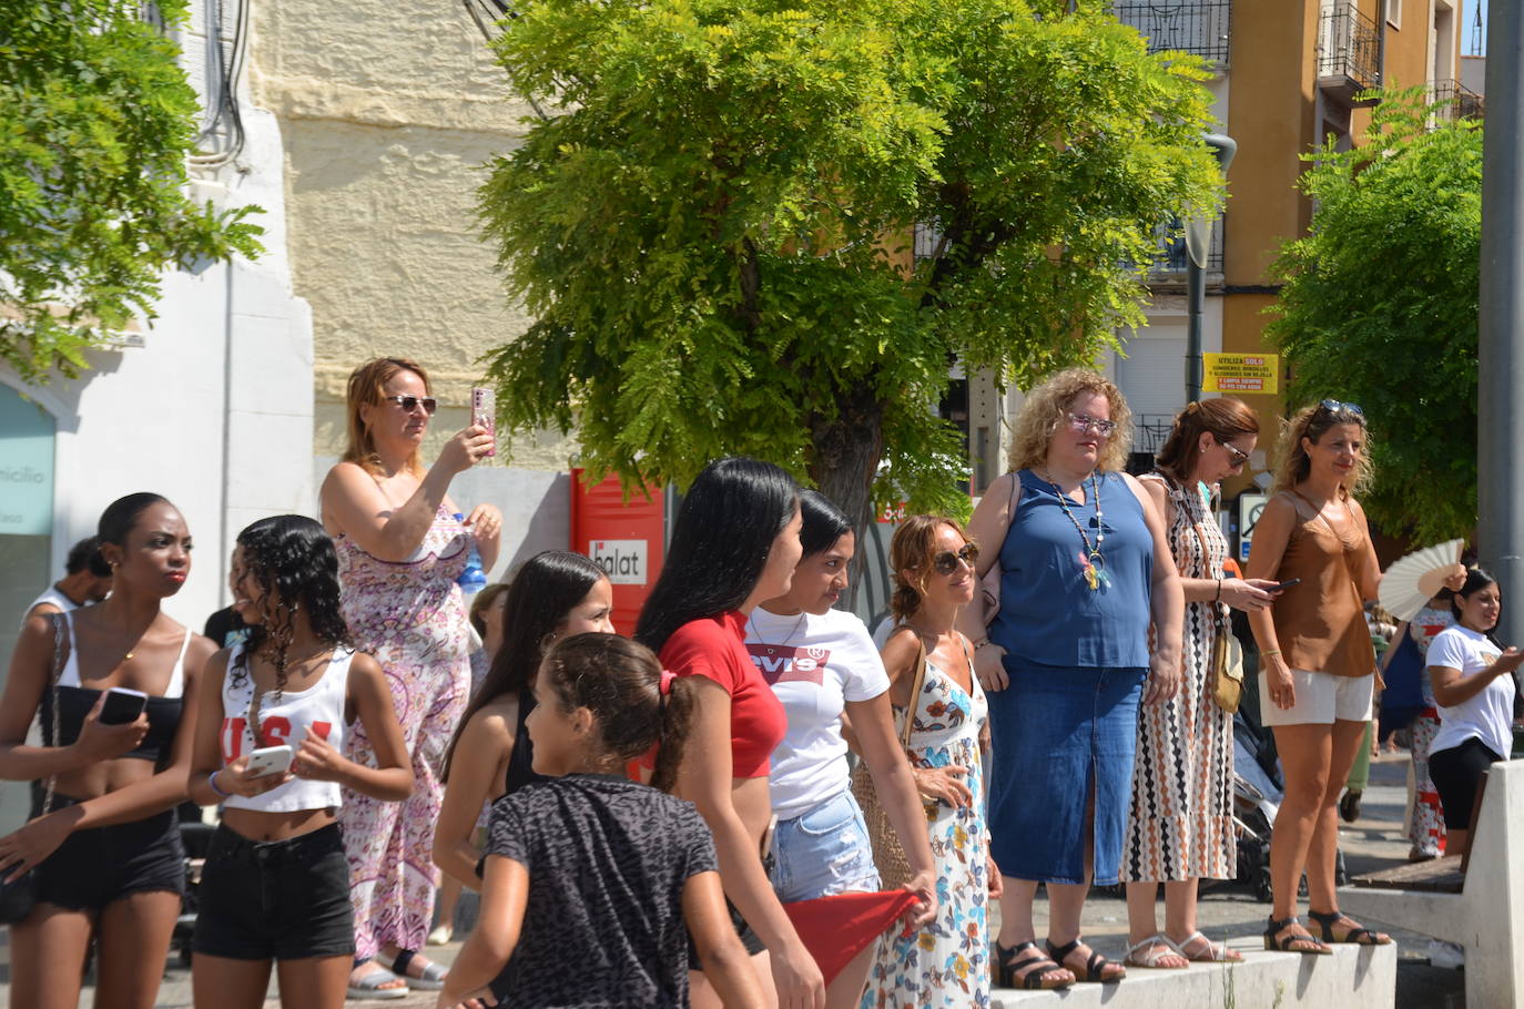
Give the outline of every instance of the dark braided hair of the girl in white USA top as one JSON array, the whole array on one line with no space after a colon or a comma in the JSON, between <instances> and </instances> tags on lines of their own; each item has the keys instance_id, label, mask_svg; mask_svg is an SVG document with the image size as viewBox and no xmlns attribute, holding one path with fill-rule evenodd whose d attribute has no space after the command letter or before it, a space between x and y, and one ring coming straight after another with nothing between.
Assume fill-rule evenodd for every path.
<instances>
[{"instance_id":1,"label":"dark braided hair of the girl in white USA top","mask_svg":"<svg viewBox=\"0 0 1524 1009\"><path fill-rule=\"evenodd\" d=\"M306 620L319 642L331 648L349 648L349 625L338 608L338 555L323 526L306 515L273 515L251 523L238 533L244 550L244 567L264 590L264 608L258 623L248 625L248 637L238 660L229 671L235 686L251 675L248 657L264 652L276 668L276 698L287 684L287 652L296 629L296 613L306 611ZM259 739L259 690L250 706L250 730Z\"/></svg>"}]
</instances>

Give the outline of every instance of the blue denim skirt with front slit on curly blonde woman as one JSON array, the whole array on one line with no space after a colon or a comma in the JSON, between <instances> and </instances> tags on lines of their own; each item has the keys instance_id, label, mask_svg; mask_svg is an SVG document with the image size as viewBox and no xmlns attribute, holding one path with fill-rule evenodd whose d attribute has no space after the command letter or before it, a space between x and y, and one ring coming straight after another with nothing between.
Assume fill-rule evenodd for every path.
<instances>
[{"instance_id":1,"label":"blue denim skirt with front slit on curly blonde woman","mask_svg":"<svg viewBox=\"0 0 1524 1009\"><path fill-rule=\"evenodd\" d=\"M1064 669L1004 661L989 690L991 852L1000 875L1087 882L1085 806L1094 791L1090 882L1117 882L1132 797L1138 700L1148 669Z\"/></svg>"}]
</instances>

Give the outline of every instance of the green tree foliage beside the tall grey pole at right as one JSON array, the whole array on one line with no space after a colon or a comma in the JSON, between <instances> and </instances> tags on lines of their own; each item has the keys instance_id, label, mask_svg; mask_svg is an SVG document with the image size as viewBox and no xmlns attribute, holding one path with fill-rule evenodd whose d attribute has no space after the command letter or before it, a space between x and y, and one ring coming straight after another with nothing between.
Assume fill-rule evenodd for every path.
<instances>
[{"instance_id":1,"label":"green tree foliage beside the tall grey pole at right","mask_svg":"<svg viewBox=\"0 0 1524 1009\"><path fill-rule=\"evenodd\" d=\"M1283 247L1271 338L1291 402L1346 399L1372 425L1373 521L1420 544L1477 523L1481 123L1388 96L1364 142L1308 155L1312 232Z\"/></svg>"}]
</instances>

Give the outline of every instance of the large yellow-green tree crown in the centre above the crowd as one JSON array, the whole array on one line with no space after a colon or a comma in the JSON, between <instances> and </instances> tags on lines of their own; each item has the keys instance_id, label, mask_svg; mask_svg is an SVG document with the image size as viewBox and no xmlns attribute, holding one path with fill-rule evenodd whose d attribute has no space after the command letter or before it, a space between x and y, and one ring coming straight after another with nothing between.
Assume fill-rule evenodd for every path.
<instances>
[{"instance_id":1,"label":"large yellow-green tree crown in the centre above the crowd","mask_svg":"<svg viewBox=\"0 0 1524 1009\"><path fill-rule=\"evenodd\" d=\"M498 55L547 117L482 191L538 320L494 352L504 422L626 482L747 453L860 520L966 511L949 363L1093 361L1155 226L1218 198L1202 64L1068 6L517 3Z\"/></svg>"}]
</instances>

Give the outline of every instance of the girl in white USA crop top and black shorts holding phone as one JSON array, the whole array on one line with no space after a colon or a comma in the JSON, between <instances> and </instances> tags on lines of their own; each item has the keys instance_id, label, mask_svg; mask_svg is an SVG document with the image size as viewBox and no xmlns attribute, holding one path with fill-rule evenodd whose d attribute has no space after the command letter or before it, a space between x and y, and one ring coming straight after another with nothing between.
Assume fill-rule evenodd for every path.
<instances>
[{"instance_id":1,"label":"girl in white USA crop top and black shorts holding phone","mask_svg":"<svg viewBox=\"0 0 1524 1009\"><path fill-rule=\"evenodd\" d=\"M320 524L248 526L230 581L250 633L212 657L195 733L190 797L223 803L201 873L195 1004L259 1009L274 962L287 1009L337 1009L355 951L340 786L407 799L407 747L381 666L349 645ZM375 767L343 756L357 719Z\"/></svg>"}]
</instances>

